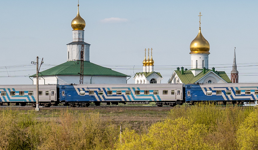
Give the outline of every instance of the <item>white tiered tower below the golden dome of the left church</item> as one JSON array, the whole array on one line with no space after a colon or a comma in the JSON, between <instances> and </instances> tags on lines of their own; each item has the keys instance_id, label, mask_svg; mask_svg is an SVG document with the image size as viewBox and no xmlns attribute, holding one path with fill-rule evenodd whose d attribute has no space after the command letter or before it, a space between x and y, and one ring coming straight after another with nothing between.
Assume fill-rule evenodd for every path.
<instances>
[{"instance_id":1,"label":"white tiered tower below the golden dome of the left church","mask_svg":"<svg viewBox=\"0 0 258 150\"><path fill-rule=\"evenodd\" d=\"M84 45L84 60L90 61L90 44L84 42L84 30L73 30L73 42L67 44L67 61L80 60Z\"/></svg>"}]
</instances>

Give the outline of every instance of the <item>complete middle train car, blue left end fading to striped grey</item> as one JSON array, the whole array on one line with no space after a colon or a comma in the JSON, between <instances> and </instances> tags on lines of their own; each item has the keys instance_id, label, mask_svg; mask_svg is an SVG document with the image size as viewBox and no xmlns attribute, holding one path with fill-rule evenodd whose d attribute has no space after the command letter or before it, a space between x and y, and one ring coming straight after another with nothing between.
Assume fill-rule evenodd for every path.
<instances>
[{"instance_id":1,"label":"complete middle train car, blue left end fading to striped grey","mask_svg":"<svg viewBox=\"0 0 258 150\"><path fill-rule=\"evenodd\" d=\"M70 106L149 104L175 106L182 104L185 84L64 84L60 85L60 102Z\"/></svg>"}]
</instances>

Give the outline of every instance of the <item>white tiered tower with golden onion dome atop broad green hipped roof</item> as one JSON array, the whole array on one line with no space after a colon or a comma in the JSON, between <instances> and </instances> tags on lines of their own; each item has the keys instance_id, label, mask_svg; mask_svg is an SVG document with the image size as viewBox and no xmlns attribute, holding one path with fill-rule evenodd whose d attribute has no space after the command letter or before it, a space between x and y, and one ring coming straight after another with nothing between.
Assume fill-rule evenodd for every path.
<instances>
[{"instance_id":1,"label":"white tiered tower with golden onion dome atop broad green hipped roof","mask_svg":"<svg viewBox=\"0 0 258 150\"><path fill-rule=\"evenodd\" d=\"M84 61L90 61L90 44L84 42L84 28L85 21L79 14L79 4L77 16L72 20L71 26L73 28L73 42L66 44L67 45L67 61L80 60L81 58L81 49L84 45Z\"/></svg>"}]
</instances>

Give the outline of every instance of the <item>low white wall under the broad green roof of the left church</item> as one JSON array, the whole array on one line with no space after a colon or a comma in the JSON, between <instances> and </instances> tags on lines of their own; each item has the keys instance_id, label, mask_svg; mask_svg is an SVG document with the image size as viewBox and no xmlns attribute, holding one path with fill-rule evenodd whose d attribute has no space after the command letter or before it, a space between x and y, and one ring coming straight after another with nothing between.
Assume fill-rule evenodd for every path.
<instances>
[{"instance_id":1,"label":"low white wall under the broad green roof of the left church","mask_svg":"<svg viewBox=\"0 0 258 150\"><path fill-rule=\"evenodd\" d=\"M39 84L79 84L80 76L56 75L39 76ZM83 76L83 84L126 84L126 76ZM33 84L37 84L33 77Z\"/></svg>"}]
</instances>

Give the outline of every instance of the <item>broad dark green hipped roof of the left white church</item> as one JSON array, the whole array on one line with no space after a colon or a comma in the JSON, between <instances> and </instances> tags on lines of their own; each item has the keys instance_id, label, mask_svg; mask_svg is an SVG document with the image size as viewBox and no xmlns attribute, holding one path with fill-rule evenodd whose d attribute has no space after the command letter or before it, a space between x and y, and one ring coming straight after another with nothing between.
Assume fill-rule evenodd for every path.
<instances>
[{"instance_id":1,"label":"broad dark green hipped roof of the left white church","mask_svg":"<svg viewBox=\"0 0 258 150\"><path fill-rule=\"evenodd\" d=\"M77 64L79 62L79 64ZM51 75L79 75L81 63L80 61L67 61L63 64L59 64L50 69L44 70L39 73L39 76L51 76ZM93 64L89 61L84 61L83 68L84 75L93 76L128 76L126 74L114 71L110 68L102 67L97 64ZM36 74L30 76L33 77Z\"/></svg>"}]
</instances>

